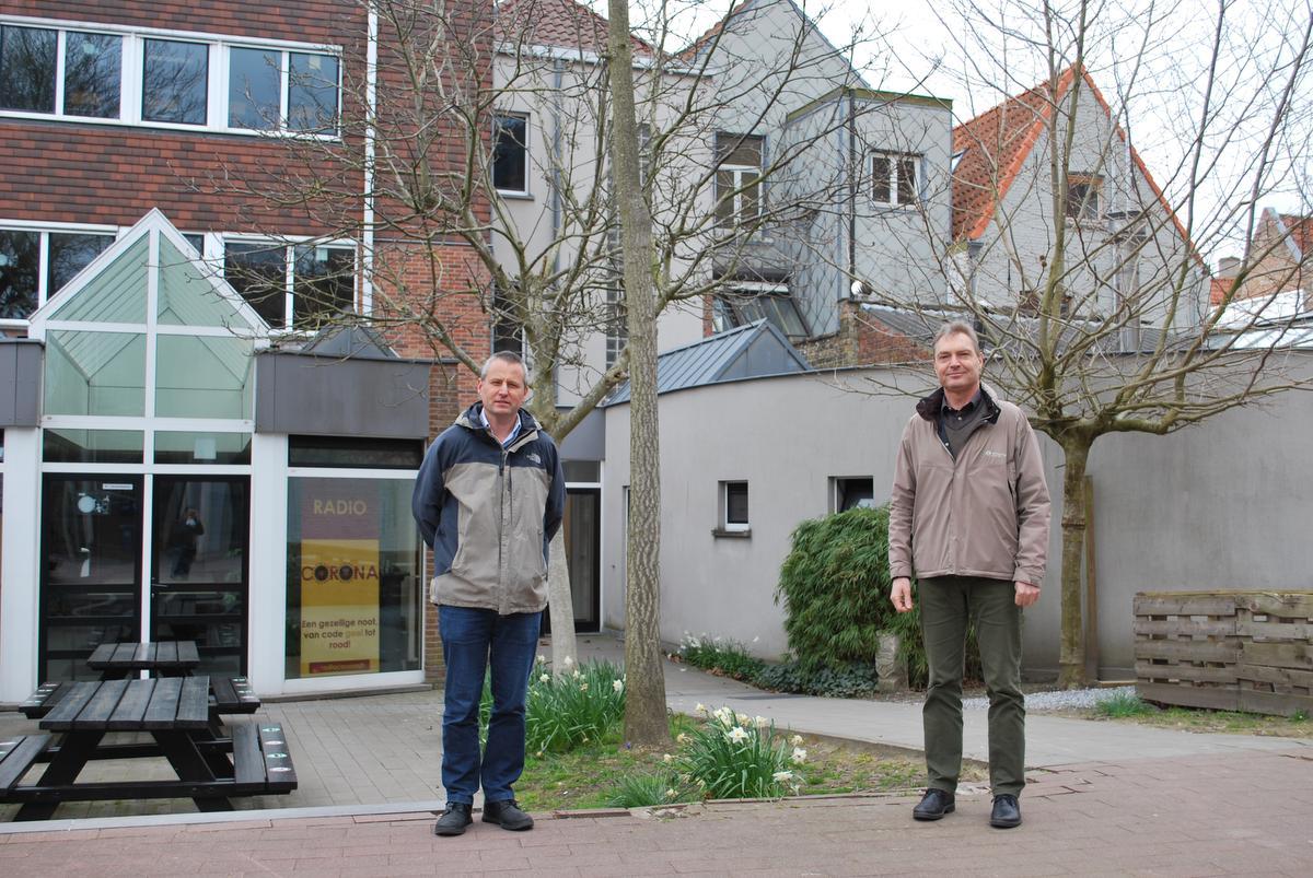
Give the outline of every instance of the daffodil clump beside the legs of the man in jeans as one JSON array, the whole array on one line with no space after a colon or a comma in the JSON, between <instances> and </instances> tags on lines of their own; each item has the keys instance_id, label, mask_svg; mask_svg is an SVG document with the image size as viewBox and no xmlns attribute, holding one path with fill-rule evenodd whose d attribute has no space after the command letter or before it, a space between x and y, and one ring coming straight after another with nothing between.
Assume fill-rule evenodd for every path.
<instances>
[{"instance_id":1,"label":"daffodil clump beside the legs of the man in jeans","mask_svg":"<svg viewBox=\"0 0 1313 878\"><path fill-rule=\"evenodd\" d=\"M491 714L491 685L484 682L479 703L483 740L487 740ZM525 747L530 753L561 753L601 739L620 724L624 715L625 675L617 665L587 661L572 671L553 675L540 663L529 677Z\"/></svg>"}]
</instances>

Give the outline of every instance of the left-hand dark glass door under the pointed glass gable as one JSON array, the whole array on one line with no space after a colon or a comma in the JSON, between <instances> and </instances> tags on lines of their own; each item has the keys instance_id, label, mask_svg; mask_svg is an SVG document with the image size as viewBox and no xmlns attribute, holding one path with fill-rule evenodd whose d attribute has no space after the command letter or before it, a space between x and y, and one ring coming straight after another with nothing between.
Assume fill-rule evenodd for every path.
<instances>
[{"instance_id":1,"label":"left-hand dark glass door under the pointed glass gable","mask_svg":"<svg viewBox=\"0 0 1313 878\"><path fill-rule=\"evenodd\" d=\"M104 642L140 639L142 476L42 480L41 680L95 680Z\"/></svg>"}]
</instances>

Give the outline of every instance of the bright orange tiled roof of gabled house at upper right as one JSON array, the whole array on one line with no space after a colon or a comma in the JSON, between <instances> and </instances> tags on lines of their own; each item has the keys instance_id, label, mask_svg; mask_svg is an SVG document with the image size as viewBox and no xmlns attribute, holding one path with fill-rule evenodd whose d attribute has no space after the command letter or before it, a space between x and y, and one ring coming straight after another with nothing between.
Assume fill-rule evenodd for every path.
<instances>
[{"instance_id":1,"label":"bright orange tiled roof of gabled house at upper right","mask_svg":"<svg viewBox=\"0 0 1313 878\"><path fill-rule=\"evenodd\" d=\"M1049 83L1040 83L1028 92L1011 97L953 129L953 152L962 154L953 172L953 240L977 239L989 228L994 219L995 205L1007 194L1031 150L1044 134L1053 106L1066 96L1071 83L1075 81L1075 71L1077 67L1073 64L1062 72L1052 98ZM1087 70L1081 71L1081 81L1111 118L1112 109ZM1113 125L1113 130L1121 142L1127 143L1127 134L1121 126ZM1140 154L1133 146L1128 144L1128 148L1132 163L1158 197L1162 209L1171 217L1176 234L1188 244L1195 260L1203 264L1203 257L1186 234L1186 227L1180 224L1176 211L1167 203Z\"/></svg>"}]
</instances>

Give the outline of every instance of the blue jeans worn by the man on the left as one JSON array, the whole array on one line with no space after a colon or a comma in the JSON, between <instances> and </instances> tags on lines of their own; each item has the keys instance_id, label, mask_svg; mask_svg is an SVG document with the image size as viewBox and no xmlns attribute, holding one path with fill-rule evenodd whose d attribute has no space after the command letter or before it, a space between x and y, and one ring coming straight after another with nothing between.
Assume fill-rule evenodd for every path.
<instances>
[{"instance_id":1,"label":"blue jeans worn by the man on the left","mask_svg":"<svg viewBox=\"0 0 1313 878\"><path fill-rule=\"evenodd\" d=\"M437 608L446 689L442 709L442 786L446 802L515 798L511 787L524 770L524 701L538 648L542 613L498 616L469 606ZM479 698L492 668L492 718L479 753Z\"/></svg>"}]
</instances>

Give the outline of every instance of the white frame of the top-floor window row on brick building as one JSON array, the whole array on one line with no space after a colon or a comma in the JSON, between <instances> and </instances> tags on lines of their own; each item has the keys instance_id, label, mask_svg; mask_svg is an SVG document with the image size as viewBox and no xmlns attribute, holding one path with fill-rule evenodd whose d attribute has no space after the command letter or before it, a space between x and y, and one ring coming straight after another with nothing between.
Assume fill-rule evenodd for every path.
<instances>
[{"instance_id":1,"label":"white frame of the top-floor window row on brick building","mask_svg":"<svg viewBox=\"0 0 1313 878\"><path fill-rule=\"evenodd\" d=\"M79 125L130 125L134 127L165 129L173 131L225 131L252 136L278 136L297 139L339 140L341 136L343 102L343 49L322 43L295 42L289 39L252 41L242 37L185 30L165 30L160 28L126 28L91 21L70 21L64 18L28 18L20 16L0 16L0 24L16 28L39 28L56 30L55 49L55 110L54 113L34 113L29 110L0 109L0 118L58 119ZM63 112L64 96L64 46L67 33L108 34L122 37L118 81L118 115L101 118L92 115L70 115ZM171 42L202 43L209 47L205 125L181 122L154 122L142 118L143 77L146 62L146 41L164 39ZM230 127L228 121L228 52L232 49L256 49L281 52L280 58L280 108L278 127L270 130ZM337 62L337 125L332 134L293 131L288 125L289 66L290 54L327 55Z\"/></svg>"}]
</instances>

